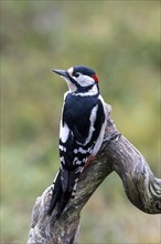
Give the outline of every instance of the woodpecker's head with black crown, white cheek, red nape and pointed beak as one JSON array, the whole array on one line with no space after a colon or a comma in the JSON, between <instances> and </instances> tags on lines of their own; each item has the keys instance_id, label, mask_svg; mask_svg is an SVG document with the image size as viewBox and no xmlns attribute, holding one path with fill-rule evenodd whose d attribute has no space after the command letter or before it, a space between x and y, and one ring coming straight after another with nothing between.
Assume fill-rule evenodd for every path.
<instances>
[{"instance_id":1,"label":"woodpecker's head with black crown, white cheek, red nape and pointed beak","mask_svg":"<svg viewBox=\"0 0 161 244\"><path fill-rule=\"evenodd\" d=\"M68 89L72 92L87 92L92 90L93 87L96 87L98 90L98 78L90 68L77 65L68 70L53 69L52 71L66 80Z\"/></svg>"}]
</instances>

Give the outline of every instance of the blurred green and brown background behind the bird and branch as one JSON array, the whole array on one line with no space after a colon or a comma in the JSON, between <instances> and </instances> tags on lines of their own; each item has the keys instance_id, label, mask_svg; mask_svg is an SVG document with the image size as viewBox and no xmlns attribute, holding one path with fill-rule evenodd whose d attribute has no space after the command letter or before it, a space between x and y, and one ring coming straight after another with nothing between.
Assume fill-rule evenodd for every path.
<instances>
[{"instance_id":1,"label":"blurred green and brown background behind the bird and branch","mask_svg":"<svg viewBox=\"0 0 161 244\"><path fill-rule=\"evenodd\" d=\"M1 1L1 243L25 243L36 196L58 169L67 87L51 72L97 71L119 131L159 169L159 1ZM112 173L82 213L80 243L160 243Z\"/></svg>"}]
</instances>

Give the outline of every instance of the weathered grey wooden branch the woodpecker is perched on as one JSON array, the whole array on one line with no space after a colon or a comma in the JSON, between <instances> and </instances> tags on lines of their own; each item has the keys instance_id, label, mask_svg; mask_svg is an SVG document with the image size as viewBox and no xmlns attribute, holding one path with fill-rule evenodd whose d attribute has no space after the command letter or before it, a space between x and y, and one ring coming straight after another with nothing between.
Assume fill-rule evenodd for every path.
<instances>
[{"instance_id":1,"label":"weathered grey wooden branch the woodpecker is perched on","mask_svg":"<svg viewBox=\"0 0 161 244\"><path fill-rule=\"evenodd\" d=\"M37 197L32 213L29 244L76 244L78 243L79 217L83 206L107 175L116 171L133 205L149 214L161 213L161 180L155 179L143 156L119 133L110 119L110 106L105 141L97 157L86 167L78 181L75 199L55 221L55 213L46 215L51 186Z\"/></svg>"}]
</instances>

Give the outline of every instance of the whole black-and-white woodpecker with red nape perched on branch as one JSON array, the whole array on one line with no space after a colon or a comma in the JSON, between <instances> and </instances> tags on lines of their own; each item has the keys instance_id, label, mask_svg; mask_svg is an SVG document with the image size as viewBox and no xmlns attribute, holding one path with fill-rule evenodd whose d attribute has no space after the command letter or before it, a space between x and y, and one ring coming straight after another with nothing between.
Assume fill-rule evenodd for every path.
<instances>
[{"instance_id":1,"label":"whole black-and-white woodpecker with red nape perched on branch","mask_svg":"<svg viewBox=\"0 0 161 244\"><path fill-rule=\"evenodd\" d=\"M99 151L105 128L106 109L99 93L98 78L87 67L53 70L68 85L64 95L60 126L61 167L54 180L49 214L56 207L58 217L74 197L79 174L90 156Z\"/></svg>"}]
</instances>

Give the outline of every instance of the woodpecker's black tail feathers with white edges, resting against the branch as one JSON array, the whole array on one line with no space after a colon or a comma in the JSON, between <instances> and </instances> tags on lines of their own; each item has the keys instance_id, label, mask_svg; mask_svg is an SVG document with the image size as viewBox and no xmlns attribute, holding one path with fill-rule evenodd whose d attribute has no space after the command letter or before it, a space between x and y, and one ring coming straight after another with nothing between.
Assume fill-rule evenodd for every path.
<instances>
[{"instance_id":1,"label":"woodpecker's black tail feathers with white edges, resting against the branch","mask_svg":"<svg viewBox=\"0 0 161 244\"><path fill-rule=\"evenodd\" d=\"M73 171L60 169L53 183L54 189L49 209L49 215L52 214L56 206L56 218L61 216L69 199L75 196L79 173L80 172L77 169Z\"/></svg>"}]
</instances>

